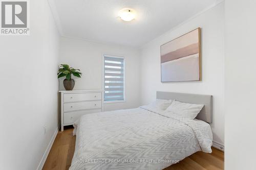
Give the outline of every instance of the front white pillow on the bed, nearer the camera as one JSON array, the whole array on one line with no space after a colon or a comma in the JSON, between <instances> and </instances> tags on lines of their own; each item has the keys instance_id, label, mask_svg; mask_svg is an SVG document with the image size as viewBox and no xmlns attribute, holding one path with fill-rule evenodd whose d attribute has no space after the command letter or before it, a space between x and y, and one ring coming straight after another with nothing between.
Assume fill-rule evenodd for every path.
<instances>
[{"instance_id":1,"label":"front white pillow on the bed, nearer the camera","mask_svg":"<svg viewBox=\"0 0 256 170\"><path fill-rule=\"evenodd\" d=\"M202 110L204 105L182 103L173 101L173 103L165 110L165 112L172 112L178 114L184 118L194 119L198 113Z\"/></svg>"}]
</instances>

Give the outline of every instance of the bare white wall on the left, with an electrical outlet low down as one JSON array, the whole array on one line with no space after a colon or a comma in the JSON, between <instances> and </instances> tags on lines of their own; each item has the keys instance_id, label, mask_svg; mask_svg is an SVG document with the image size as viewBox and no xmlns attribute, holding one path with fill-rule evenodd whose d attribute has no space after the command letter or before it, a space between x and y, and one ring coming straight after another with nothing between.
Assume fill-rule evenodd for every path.
<instances>
[{"instance_id":1,"label":"bare white wall on the left, with an electrical outlet low down","mask_svg":"<svg viewBox=\"0 0 256 170\"><path fill-rule=\"evenodd\" d=\"M58 126L59 36L47 1L29 10L30 36L0 36L0 169L36 169Z\"/></svg>"}]
</instances>

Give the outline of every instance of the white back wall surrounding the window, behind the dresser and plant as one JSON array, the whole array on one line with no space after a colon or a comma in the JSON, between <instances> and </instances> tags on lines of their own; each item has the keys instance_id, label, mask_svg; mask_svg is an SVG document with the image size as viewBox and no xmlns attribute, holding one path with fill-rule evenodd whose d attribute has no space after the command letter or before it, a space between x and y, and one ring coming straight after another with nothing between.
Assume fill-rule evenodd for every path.
<instances>
[{"instance_id":1,"label":"white back wall surrounding the window, behind the dresser and plant","mask_svg":"<svg viewBox=\"0 0 256 170\"><path fill-rule=\"evenodd\" d=\"M139 98L139 50L121 45L103 44L92 41L61 37L59 64L69 64L79 68L81 78L75 78L74 90L103 89L103 54L119 55L125 58L125 100L124 103L104 104L104 111L136 108ZM63 90L63 79L59 81Z\"/></svg>"}]
</instances>

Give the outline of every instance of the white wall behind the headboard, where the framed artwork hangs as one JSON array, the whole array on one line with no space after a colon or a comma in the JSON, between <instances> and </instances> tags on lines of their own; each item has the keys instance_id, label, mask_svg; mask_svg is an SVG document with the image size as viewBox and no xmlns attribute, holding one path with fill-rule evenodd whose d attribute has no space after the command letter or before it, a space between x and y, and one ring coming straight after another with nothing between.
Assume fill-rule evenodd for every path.
<instances>
[{"instance_id":1,"label":"white wall behind the headboard, where the framed artwork hangs","mask_svg":"<svg viewBox=\"0 0 256 170\"><path fill-rule=\"evenodd\" d=\"M202 28L202 81L161 83L160 45L198 27ZM214 141L224 143L224 3L157 37L141 52L141 101L156 99L156 91L211 94Z\"/></svg>"}]
</instances>

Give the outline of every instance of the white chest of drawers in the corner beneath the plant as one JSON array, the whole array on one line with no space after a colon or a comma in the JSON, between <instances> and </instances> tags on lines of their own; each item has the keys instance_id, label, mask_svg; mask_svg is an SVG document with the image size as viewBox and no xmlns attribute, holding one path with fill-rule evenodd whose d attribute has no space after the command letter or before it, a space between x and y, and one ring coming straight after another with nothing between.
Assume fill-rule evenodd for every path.
<instances>
[{"instance_id":1,"label":"white chest of drawers in the corner beneath the plant","mask_svg":"<svg viewBox=\"0 0 256 170\"><path fill-rule=\"evenodd\" d=\"M103 90L60 92L61 131L84 114L103 111Z\"/></svg>"}]
</instances>

